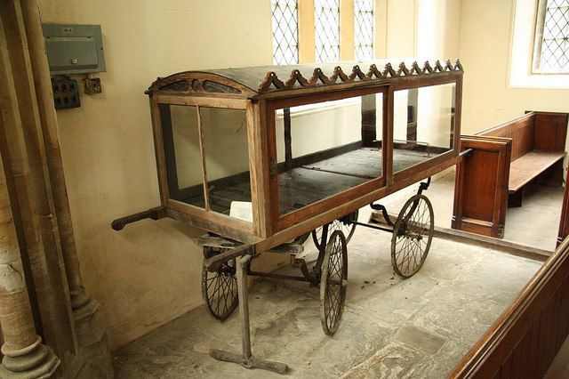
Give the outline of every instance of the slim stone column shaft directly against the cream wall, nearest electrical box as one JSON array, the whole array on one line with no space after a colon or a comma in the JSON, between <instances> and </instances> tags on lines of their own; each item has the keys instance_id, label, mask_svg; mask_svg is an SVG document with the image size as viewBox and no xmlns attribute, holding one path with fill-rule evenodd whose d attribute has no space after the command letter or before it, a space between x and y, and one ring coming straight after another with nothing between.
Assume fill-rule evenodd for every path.
<instances>
[{"instance_id":1,"label":"slim stone column shaft directly against the cream wall, nearest electrical box","mask_svg":"<svg viewBox=\"0 0 569 379\"><path fill-rule=\"evenodd\" d=\"M94 318L99 303L85 291L77 258L39 7L36 0L21 0L20 6L36 91L37 111L41 125L40 134L49 172L48 180L52 189L61 254L65 263L71 310L75 321L77 342L82 349L85 362L81 373L84 376L112 377L107 337Z\"/></svg>"}]
</instances>

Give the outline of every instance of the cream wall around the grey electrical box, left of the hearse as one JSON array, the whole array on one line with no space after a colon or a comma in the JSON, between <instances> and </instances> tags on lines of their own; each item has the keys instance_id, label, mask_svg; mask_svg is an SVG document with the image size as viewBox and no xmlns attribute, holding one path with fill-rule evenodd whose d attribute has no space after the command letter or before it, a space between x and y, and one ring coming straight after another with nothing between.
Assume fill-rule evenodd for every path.
<instances>
[{"instance_id":1,"label":"cream wall around the grey electrical box, left of the hearse","mask_svg":"<svg viewBox=\"0 0 569 379\"><path fill-rule=\"evenodd\" d=\"M85 286L101 302L111 348L199 305L199 233L171 220L121 232L116 217L159 204L148 97L158 76L271 63L266 0L40 0L44 22L100 24L103 93L58 111Z\"/></svg>"}]
</instances>

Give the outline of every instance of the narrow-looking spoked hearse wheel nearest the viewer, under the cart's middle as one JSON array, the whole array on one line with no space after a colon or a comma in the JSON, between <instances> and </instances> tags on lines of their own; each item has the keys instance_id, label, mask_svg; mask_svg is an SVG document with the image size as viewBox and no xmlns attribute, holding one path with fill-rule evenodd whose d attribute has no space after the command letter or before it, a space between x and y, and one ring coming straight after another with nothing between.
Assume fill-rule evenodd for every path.
<instances>
[{"instance_id":1,"label":"narrow-looking spoked hearse wheel nearest the viewer, under the cart's middle","mask_svg":"<svg viewBox=\"0 0 569 379\"><path fill-rule=\"evenodd\" d=\"M340 325L348 285L348 247L341 230L335 230L326 244L320 277L320 320L326 335Z\"/></svg>"}]
</instances>

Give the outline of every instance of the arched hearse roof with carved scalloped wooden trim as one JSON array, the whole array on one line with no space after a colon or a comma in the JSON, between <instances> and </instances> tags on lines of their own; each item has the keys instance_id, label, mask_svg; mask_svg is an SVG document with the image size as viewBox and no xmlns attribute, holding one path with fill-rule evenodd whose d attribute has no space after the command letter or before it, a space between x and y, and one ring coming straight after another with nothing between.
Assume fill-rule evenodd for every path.
<instances>
[{"instance_id":1,"label":"arched hearse roof with carved scalloped wooden trim","mask_svg":"<svg viewBox=\"0 0 569 379\"><path fill-rule=\"evenodd\" d=\"M418 62L422 61L422 64ZM234 93L252 97L261 93L348 82L389 81L390 78L462 72L456 60L369 60L254 66L233 69L183 71L158 77L146 93Z\"/></svg>"}]
</instances>

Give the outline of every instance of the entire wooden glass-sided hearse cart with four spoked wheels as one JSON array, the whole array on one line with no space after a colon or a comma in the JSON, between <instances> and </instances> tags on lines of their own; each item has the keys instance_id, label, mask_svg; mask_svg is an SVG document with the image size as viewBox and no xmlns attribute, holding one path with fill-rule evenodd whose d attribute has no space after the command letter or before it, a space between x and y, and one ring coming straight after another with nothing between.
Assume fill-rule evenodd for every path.
<instances>
[{"instance_id":1,"label":"entire wooden glass-sided hearse cart with four spoked wheels","mask_svg":"<svg viewBox=\"0 0 569 379\"><path fill-rule=\"evenodd\" d=\"M113 222L162 217L208 233L202 291L208 310L227 319L239 305L243 354L212 356L284 372L252 357L246 276L320 286L322 327L333 335L348 284L347 243L356 225L393 233L391 258L403 278L428 252L433 210L421 192L392 222L381 205L390 193L430 178L459 159L460 62L387 60L180 72L150 88L162 205ZM357 221L380 209L385 223ZM302 244L318 248L309 268ZM301 276L251 270L264 252L292 254Z\"/></svg>"}]
</instances>

